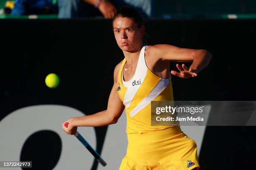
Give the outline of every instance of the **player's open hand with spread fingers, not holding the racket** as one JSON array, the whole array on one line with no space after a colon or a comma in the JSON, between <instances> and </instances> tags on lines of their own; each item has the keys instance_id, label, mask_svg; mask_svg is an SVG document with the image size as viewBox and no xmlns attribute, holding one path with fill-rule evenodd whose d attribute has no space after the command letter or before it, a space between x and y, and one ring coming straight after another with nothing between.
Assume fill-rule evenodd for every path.
<instances>
[{"instance_id":1,"label":"player's open hand with spread fingers, not holding the racket","mask_svg":"<svg viewBox=\"0 0 256 170\"><path fill-rule=\"evenodd\" d=\"M184 64L182 64L182 67L177 64L176 67L180 72L172 70L171 73L173 75L176 75L181 78L190 78L190 77L197 77L196 70L192 70L191 68L187 68Z\"/></svg>"}]
</instances>

